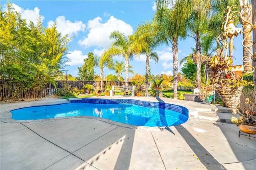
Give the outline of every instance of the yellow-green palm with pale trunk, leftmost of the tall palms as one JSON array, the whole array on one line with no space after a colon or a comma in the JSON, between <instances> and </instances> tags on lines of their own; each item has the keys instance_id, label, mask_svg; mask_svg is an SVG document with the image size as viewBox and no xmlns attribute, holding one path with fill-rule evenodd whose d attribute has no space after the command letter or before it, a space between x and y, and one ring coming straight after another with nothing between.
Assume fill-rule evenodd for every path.
<instances>
[{"instance_id":1,"label":"yellow-green palm with pale trunk, leftmost of the tall palms","mask_svg":"<svg viewBox=\"0 0 256 170\"><path fill-rule=\"evenodd\" d=\"M110 48L105 51L106 56L114 57L122 55L125 63L125 86L128 86L128 72L129 72L129 60L132 59L134 54L139 54L137 46L134 45L131 36L126 36L124 33L114 31L110 34L110 39L114 40Z\"/></svg>"}]
</instances>

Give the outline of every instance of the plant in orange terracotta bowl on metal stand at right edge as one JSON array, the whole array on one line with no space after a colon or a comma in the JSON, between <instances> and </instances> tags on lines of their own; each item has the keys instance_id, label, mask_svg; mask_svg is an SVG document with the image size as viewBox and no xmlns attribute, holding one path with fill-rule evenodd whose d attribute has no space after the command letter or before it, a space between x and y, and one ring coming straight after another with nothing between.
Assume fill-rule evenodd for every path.
<instances>
[{"instance_id":1,"label":"plant in orange terracotta bowl on metal stand at right edge","mask_svg":"<svg viewBox=\"0 0 256 170\"><path fill-rule=\"evenodd\" d=\"M246 98L246 104L248 104L248 109L243 111L242 116L232 117L231 122L236 123L236 126L239 127L240 131L247 134L256 134L256 111L253 110L254 105L250 105L251 101L249 98ZM239 131L239 135L240 135Z\"/></svg>"}]
</instances>

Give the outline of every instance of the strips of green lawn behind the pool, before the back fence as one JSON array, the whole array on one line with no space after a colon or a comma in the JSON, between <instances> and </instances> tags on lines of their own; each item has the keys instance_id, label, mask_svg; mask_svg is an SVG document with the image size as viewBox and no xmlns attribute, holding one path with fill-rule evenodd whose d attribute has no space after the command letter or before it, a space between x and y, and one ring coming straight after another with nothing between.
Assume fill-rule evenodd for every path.
<instances>
[{"instance_id":1,"label":"strips of green lawn behind the pool, before the back fence","mask_svg":"<svg viewBox=\"0 0 256 170\"><path fill-rule=\"evenodd\" d=\"M192 91L178 91L178 95L180 94L193 94ZM106 93L102 93L100 96L105 96ZM116 92L115 95L123 95L123 92ZM131 95L131 92L128 93L128 95ZM96 96L95 94L91 94L91 95L81 95L81 96L64 96L62 97L62 99L68 99L68 98L88 98L88 97L92 97L92 96ZM163 91L163 97L164 98L171 98L173 99L173 90L164 90Z\"/></svg>"}]
</instances>

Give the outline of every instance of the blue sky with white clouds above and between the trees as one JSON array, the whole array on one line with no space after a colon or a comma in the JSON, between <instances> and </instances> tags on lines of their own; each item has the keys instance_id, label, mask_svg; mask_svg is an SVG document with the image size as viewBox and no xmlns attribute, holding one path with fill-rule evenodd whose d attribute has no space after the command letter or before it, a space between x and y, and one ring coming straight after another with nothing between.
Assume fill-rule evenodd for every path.
<instances>
[{"instance_id":1,"label":"blue sky with white clouds above and between the trees","mask_svg":"<svg viewBox=\"0 0 256 170\"><path fill-rule=\"evenodd\" d=\"M4 6L8 1L1 1ZM5 3L5 4L4 4ZM51 27L56 22L56 29L62 35L74 36L70 41L67 57L70 62L66 63L67 74L78 76L78 67L84 64L89 52L101 56L103 51L110 47L112 41L109 35L118 30L126 35L131 35L138 25L152 20L156 12L154 0L13 0L10 1L14 9L18 11L27 22L37 22L42 18L43 26ZM4 7L3 7L4 8ZM192 53L195 47L194 39L187 38L178 41L179 61ZM234 65L242 64L242 35L234 39ZM158 63L150 61L151 74L173 74L172 45L161 46L154 51L159 56ZM124 57L117 56L114 60L124 61ZM146 57L134 56L129 63L134 74L145 74ZM181 67L178 70L181 72ZM95 74L100 74L99 68L94 68ZM115 74L113 70L104 68L104 77ZM131 78L134 74L129 73ZM124 73L121 75L124 77Z\"/></svg>"}]
</instances>

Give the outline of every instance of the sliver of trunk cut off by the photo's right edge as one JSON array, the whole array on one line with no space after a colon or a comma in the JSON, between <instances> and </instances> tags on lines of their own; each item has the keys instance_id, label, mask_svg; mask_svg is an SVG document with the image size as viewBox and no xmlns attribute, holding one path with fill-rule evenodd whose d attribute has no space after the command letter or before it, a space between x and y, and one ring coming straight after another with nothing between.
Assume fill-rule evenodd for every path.
<instances>
[{"instance_id":1,"label":"sliver of trunk cut off by the photo's right edge","mask_svg":"<svg viewBox=\"0 0 256 170\"><path fill-rule=\"evenodd\" d=\"M256 1L252 1L252 24L256 24ZM253 41L254 44L252 46L253 48L253 60L252 60L252 66L254 69L256 68L256 29L253 30ZM256 70L253 72L253 84L254 84L254 100L256 103Z\"/></svg>"}]
</instances>

